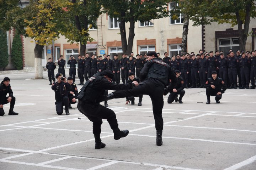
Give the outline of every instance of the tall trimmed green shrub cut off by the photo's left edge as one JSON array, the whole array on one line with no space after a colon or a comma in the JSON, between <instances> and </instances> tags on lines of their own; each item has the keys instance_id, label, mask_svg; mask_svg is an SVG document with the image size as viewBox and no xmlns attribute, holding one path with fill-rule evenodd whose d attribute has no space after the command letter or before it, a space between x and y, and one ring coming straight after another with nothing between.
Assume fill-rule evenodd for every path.
<instances>
[{"instance_id":1,"label":"tall trimmed green shrub cut off by the photo's left edge","mask_svg":"<svg viewBox=\"0 0 256 170\"><path fill-rule=\"evenodd\" d=\"M4 68L8 65L9 55L8 55L8 46L7 46L7 35L6 31L0 30L0 68Z\"/></svg>"}]
</instances>

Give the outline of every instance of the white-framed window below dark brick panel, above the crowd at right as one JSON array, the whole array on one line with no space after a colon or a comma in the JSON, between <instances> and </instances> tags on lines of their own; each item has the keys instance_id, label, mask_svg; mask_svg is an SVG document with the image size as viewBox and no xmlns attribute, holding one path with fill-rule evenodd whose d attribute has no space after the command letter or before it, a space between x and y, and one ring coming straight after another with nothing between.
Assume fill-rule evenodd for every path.
<instances>
[{"instance_id":1,"label":"white-framed window below dark brick panel, above the crowd at right","mask_svg":"<svg viewBox=\"0 0 256 170\"><path fill-rule=\"evenodd\" d=\"M219 39L219 51L226 53L229 49L233 51L239 50L239 38Z\"/></svg>"}]
</instances>

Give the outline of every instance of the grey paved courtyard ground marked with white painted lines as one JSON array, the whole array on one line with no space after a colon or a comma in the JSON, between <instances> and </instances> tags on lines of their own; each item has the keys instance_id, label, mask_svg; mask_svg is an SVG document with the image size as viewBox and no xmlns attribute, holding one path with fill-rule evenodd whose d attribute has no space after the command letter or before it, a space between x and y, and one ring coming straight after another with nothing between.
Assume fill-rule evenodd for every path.
<instances>
[{"instance_id":1,"label":"grey paved courtyard ground marked with white painted lines","mask_svg":"<svg viewBox=\"0 0 256 170\"><path fill-rule=\"evenodd\" d=\"M48 79L33 80L34 72L8 76L16 97L15 112L0 117L1 170L256 170L256 89L228 89L220 104L205 89L185 89L183 104L164 96L163 145L155 144L151 100L125 105L125 98L108 101L121 130L113 139L103 121L102 149L94 149L92 123L72 105L70 115L57 115ZM44 72L47 78L47 72ZM77 79L75 83L79 83ZM80 89L81 86L78 86Z\"/></svg>"}]
</instances>

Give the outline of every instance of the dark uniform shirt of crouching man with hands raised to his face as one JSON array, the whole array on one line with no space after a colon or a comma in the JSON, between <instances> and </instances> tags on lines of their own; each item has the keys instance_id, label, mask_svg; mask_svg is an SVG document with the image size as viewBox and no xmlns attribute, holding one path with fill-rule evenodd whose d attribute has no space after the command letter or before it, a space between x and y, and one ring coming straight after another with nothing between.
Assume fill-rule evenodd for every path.
<instances>
[{"instance_id":1,"label":"dark uniform shirt of crouching man with hands raised to his face","mask_svg":"<svg viewBox=\"0 0 256 170\"><path fill-rule=\"evenodd\" d=\"M62 101L63 97L67 96L68 97L68 83L64 83L63 81L60 82L55 82L52 85L52 90L55 92L55 100L57 102Z\"/></svg>"}]
</instances>

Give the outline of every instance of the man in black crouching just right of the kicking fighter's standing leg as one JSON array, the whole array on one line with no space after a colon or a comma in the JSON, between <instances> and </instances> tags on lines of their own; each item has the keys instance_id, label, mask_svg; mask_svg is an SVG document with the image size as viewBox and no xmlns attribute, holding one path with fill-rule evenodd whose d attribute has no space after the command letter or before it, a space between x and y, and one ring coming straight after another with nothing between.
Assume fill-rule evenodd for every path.
<instances>
[{"instance_id":1,"label":"man in black crouching just right of the kicking fighter's standing leg","mask_svg":"<svg viewBox=\"0 0 256 170\"><path fill-rule=\"evenodd\" d=\"M180 77L180 71L179 70L175 70L175 73L176 73L176 77L178 79L178 83L174 87L174 89L170 92L170 95L168 96L167 102L172 103L175 100L176 103L177 102L183 103L182 102L182 97L185 95L185 90L183 90L185 88L184 80L183 80L182 77ZM179 98L178 98L178 95L180 95Z\"/></svg>"}]
</instances>

